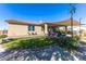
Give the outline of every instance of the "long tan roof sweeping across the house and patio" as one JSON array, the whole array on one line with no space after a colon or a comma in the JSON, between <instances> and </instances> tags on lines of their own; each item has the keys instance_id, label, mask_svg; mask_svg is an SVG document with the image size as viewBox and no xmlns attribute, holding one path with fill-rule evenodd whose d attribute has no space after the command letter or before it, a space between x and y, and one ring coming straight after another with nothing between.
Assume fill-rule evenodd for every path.
<instances>
[{"instance_id":1,"label":"long tan roof sweeping across the house and patio","mask_svg":"<svg viewBox=\"0 0 86 64\"><path fill-rule=\"evenodd\" d=\"M53 22L53 23L35 23L35 22L25 22L20 20L7 20L9 24L19 24L19 25L37 25L37 26L44 26L45 24L48 24L48 26L52 27L59 27L59 26L71 26L71 20L65 20L62 22ZM79 26L79 23L77 21L73 21L73 26Z\"/></svg>"}]
</instances>

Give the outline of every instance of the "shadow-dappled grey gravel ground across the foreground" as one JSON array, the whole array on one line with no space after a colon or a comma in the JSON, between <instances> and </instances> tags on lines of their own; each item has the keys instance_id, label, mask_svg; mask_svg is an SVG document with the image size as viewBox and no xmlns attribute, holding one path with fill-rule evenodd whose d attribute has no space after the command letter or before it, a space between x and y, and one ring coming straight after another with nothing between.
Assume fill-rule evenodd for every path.
<instances>
[{"instance_id":1,"label":"shadow-dappled grey gravel ground across the foreground","mask_svg":"<svg viewBox=\"0 0 86 64\"><path fill-rule=\"evenodd\" d=\"M0 52L0 61L85 61L86 43L81 43L75 53L70 53L59 46L49 46L40 50L5 50Z\"/></svg>"}]
</instances>

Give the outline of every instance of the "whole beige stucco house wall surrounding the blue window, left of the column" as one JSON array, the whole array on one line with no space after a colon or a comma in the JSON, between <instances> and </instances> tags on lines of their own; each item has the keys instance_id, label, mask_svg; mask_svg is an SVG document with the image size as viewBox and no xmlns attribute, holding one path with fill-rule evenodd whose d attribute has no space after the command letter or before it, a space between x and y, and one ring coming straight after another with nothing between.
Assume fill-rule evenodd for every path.
<instances>
[{"instance_id":1,"label":"whole beige stucco house wall surrounding the blue window, left of the column","mask_svg":"<svg viewBox=\"0 0 86 64\"><path fill-rule=\"evenodd\" d=\"M8 36L9 37L24 37L29 36L28 33L37 33L37 35L44 35L41 30L41 26L35 26L35 30L28 30L27 25L16 25L16 24L9 24Z\"/></svg>"}]
</instances>

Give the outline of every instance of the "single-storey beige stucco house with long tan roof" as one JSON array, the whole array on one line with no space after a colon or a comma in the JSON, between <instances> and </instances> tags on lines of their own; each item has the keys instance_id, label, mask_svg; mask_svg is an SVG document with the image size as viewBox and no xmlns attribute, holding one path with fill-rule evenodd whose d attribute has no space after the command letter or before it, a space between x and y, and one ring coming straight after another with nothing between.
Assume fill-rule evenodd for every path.
<instances>
[{"instance_id":1,"label":"single-storey beige stucco house with long tan roof","mask_svg":"<svg viewBox=\"0 0 86 64\"><path fill-rule=\"evenodd\" d=\"M53 22L53 23L35 23L17 20L7 20L9 23L8 37L28 37L28 36L45 36L49 31L60 26L71 26L71 21ZM77 21L73 21L73 25L79 25Z\"/></svg>"}]
</instances>

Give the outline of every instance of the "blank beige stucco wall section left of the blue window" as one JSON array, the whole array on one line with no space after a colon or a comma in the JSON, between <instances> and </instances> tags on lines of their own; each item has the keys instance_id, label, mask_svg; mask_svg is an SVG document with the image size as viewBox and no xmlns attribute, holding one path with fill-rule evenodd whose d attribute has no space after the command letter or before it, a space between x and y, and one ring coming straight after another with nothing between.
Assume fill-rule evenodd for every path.
<instances>
[{"instance_id":1,"label":"blank beige stucco wall section left of the blue window","mask_svg":"<svg viewBox=\"0 0 86 64\"><path fill-rule=\"evenodd\" d=\"M25 36L27 31L26 25L9 24L8 36Z\"/></svg>"}]
</instances>

